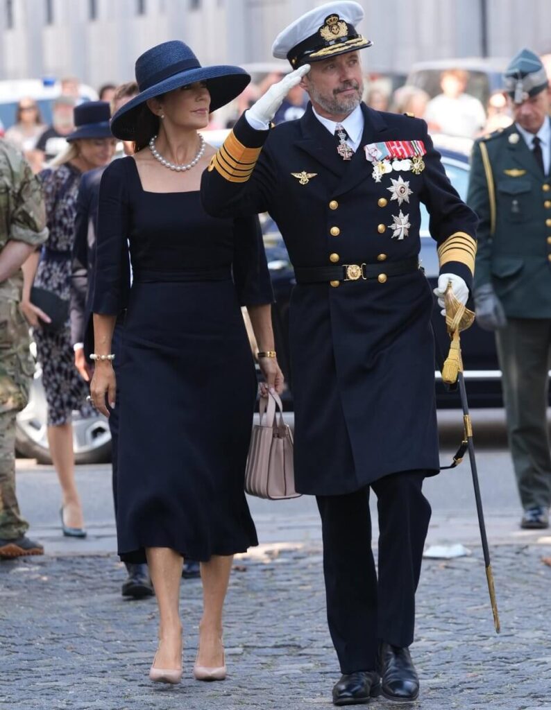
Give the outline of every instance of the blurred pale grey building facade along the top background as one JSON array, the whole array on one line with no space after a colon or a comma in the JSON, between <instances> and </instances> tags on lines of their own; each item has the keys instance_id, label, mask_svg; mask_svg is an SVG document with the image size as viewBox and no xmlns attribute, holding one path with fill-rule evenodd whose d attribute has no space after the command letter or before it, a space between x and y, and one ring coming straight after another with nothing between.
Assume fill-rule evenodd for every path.
<instances>
[{"instance_id":1,"label":"blurred pale grey building facade along the top background","mask_svg":"<svg viewBox=\"0 0 551 710\"><path fill-rule=\"evenodd\" d=\"M551 52L550 0L360 0L371 70L416 61ZM201 62L273 61L275 35L323 0L0 0L0 79L75 75L98 87L134 76L147 48L182 39ZM484 23L486 9L487 22ZM486 28L486 30L484 29Z\"/></svg>"}]
</instances>

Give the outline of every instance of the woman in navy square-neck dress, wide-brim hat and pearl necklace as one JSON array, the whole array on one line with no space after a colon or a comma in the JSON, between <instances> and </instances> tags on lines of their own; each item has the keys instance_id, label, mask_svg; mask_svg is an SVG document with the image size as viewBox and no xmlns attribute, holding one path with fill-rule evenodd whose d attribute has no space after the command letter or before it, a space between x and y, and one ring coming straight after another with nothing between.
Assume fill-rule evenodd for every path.
<instances>
[{"instance_id":1,"label":"woman in navy square-neck dress, wide-brim hat and pearl necklace","mask_svg":"<svg viewBox=\"0 0 551 710\"><path fill-rule=\"evenodd\" d=\"M200 176L215 151L198 131L250 77L238 67L201 67L187 45L171 41L139 57L136 78L140 93L117 111L112 131L137 152L109 165L100 187L90 393L108 415L117 387L112 332L127 309L117 368L117 535L123 561L147 560L159 604L150 677L182 676L178 600L189 558L201 562L204 602L193 674L222 680L232 555L257 545L243 493L257 384L241 305L270 356L260 359L264 391L281 391L282 374L272 357L260 226L204 212Z\"/></svg>"}]
</instances>

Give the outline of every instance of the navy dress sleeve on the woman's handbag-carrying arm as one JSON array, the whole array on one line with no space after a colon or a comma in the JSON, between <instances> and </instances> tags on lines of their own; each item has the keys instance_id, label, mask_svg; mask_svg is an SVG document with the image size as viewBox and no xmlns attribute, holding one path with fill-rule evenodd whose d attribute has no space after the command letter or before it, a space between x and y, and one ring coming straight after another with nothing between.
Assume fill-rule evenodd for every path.
<instances>
[{"instance_id":1,"label":"navy dress sleeve on the woman's handbag-carrying arm","mask_svg":"<svg viewBox=\"0 0 551 710\"><path fill-rule=\"evenodd\" d=\"M240 305L272 303L274 293L258 217L240 217L234 222L233 280Z\"/></svg>"}]
</instances>

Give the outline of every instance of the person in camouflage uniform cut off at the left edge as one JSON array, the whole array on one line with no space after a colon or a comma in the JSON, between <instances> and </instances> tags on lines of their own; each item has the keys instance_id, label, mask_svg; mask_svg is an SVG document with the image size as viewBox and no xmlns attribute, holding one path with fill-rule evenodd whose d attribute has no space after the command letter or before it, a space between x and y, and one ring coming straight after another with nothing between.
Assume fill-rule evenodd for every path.
<instances>
[{"instance_id":1,"label":"person in camouflage uniform cut off at the left edge","mask_svg":"<svg viewBox=\"0 0 551 710\"><path fill-rule=\"evenodd\" d=\"M28 324L19 302L21 266L46 241L41 187L23 155L0 140L0 557L41 555L29 540L15 488L16 414L27 403L34 372Z\"/></svg>"}]
</instances>

